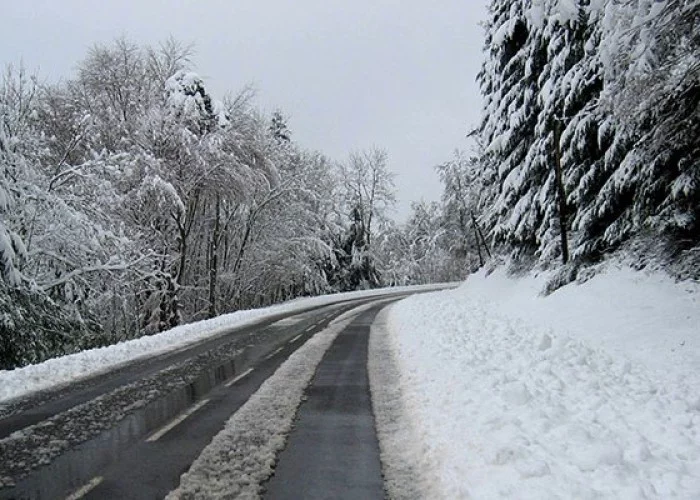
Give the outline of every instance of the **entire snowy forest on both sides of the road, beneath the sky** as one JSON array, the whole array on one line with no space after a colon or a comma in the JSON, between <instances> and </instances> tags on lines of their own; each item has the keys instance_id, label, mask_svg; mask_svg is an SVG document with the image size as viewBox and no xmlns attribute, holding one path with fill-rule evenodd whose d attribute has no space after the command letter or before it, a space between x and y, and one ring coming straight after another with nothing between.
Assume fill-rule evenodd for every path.
<instances>
[{"instance_id":1,"label":"entire snowy forest on both sides of the road, beneath the sky","mask_svg":"<svg viewBox=\"0 0 700 500\"><path fill-rule=\"evenodd\" d=\"M474 147L405 223L388 154L330 159L191 49L0 81L0 369L305 295L626 252L700 274L700 3L491 0ZM408 105L408 104L407 104ZM467 124L465 124L465 134ZM447 157L447 154L446 154ZM640 264L640 265L642 265Z\"/></svg>"}]
</instances>

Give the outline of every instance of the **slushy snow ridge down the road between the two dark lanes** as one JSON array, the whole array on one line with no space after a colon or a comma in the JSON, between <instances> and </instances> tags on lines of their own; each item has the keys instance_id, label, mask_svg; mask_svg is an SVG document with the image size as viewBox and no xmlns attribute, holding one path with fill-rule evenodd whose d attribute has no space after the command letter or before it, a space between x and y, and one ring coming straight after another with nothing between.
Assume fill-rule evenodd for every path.
<instances>
[{"instance_id":1,"label":"slushy snow ridge down the road between the two dark lanes","mask_svg":"<svg viewBox=\"0 0 700 500\"><path fill-rule=\"evenodd\" d=\"M306 386L323 355L361 311L344 313L297 349L229 419L166 498L259 498L272 475Z\"/></svg>"}]
</instances>

